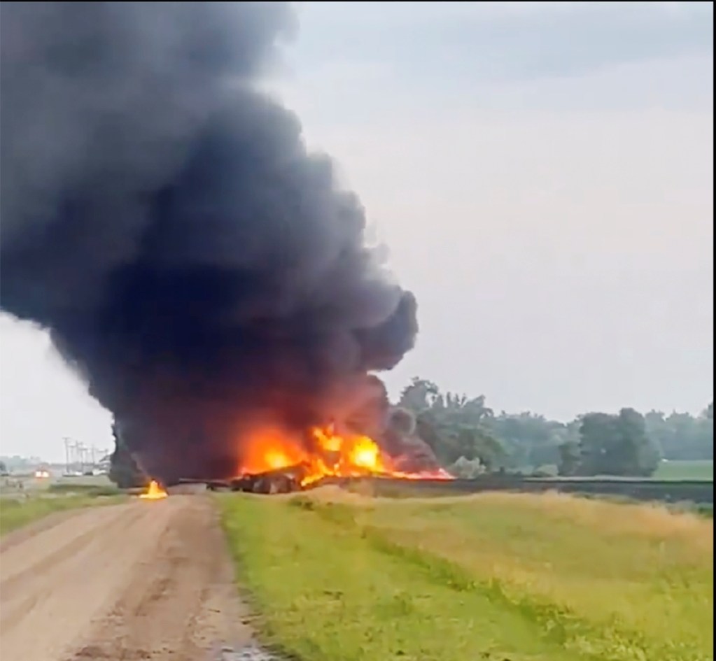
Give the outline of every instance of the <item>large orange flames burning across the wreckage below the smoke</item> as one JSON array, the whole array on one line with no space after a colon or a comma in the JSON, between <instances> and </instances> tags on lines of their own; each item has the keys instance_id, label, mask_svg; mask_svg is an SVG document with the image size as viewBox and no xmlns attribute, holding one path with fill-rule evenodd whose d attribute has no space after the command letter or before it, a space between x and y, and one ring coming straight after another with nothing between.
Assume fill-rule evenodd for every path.
<instances>
[{"instance_id":1,"label":"large orange flames burning across the wreckage below the smoke","mask_svg":"<svg viewBox=\"0 0 716 661\"><path fill-rule=\"evenodd\" d=\"M301 465L301 486L324 477L394 476L406 479L453 479L447 471L403 473L392 466L369 436L337 434L333 425L310 431L314 451L301 440L279 429L261 429L243 441L243 459L239 474L256 474Z\"/></svg>"}]
</instances>

